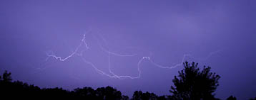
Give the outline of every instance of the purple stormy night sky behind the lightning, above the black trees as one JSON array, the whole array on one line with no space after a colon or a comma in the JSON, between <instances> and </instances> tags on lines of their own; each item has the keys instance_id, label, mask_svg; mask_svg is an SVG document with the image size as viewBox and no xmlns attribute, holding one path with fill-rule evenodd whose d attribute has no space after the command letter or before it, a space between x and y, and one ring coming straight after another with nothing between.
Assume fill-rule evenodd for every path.
<instances>
[{"instance_id":1,"label":"purple stormy night sky behind the lightning, above the black trees","mask_svg":"<svg viewBox=\"0 0 256 100\"><path fill-rule=\"evenodd\" d=\"M216 96L256 96L256 1L0 1L0 71L39 87L111 86L132 96L142 90L170 94L185 60L209 65L220 74ZM64 62L49 57L72 54ZM122 55L109 55L101 48ZM138 79L116 79L112 72ZM110 62L110 63L109 63Z\"/></svg>"}]
</instances>

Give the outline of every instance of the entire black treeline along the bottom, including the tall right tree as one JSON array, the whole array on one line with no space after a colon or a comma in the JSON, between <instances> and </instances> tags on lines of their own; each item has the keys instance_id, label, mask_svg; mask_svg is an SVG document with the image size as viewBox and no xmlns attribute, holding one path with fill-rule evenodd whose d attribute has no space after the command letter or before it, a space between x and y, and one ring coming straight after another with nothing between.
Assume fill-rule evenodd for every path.
<instances>
[{"instance_id":1,"label":"entire black treeline along the bottom, including the tall right tree","mask_svg":"<svg viewBox=\"0 0 256 100\"><path fill-rule=\"evenodd\" d=\"M200 71L198 64L184 62L184 69L179 71L170 87L170 95L157 96L154 93L134 91L132 100L212 100L215 98L218 79L220 76L210 72L210 67L204 67ZM122 95L121 91L113 87L77 88L68 91L62 88L39 88L33 84L20 81L12 81L11 72L5 71L0 75L1 99L104 99L104 100L128 100L129 96ZM230 96L227 100L236 100ZM252 99L253 100L253 99ZM256 100L256 97L254 98Z\"/></svg>"}]
</instances>

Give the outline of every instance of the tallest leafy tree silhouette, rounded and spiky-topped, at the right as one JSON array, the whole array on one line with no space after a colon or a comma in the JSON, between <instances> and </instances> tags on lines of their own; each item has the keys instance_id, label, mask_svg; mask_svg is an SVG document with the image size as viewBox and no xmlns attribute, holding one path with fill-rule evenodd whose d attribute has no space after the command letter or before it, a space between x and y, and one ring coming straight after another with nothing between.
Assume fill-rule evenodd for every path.
<instances>
[{"instance_id":1,"label":"tallest leafy tree silhouette, rounded and spiky-topped, at the right","mask_svg":"<svg viewBox=\"0 0 256 100\"><path fill-rule=\"evenodd\" d=\"M184 62L183 65L184 69L172 80L175 87L171 86L170 92L174 99L215 99L212 93L219 85L220 76L210 72L210 67L204 66L200 71L195 62Z\"/></svg>"}]
</instances>

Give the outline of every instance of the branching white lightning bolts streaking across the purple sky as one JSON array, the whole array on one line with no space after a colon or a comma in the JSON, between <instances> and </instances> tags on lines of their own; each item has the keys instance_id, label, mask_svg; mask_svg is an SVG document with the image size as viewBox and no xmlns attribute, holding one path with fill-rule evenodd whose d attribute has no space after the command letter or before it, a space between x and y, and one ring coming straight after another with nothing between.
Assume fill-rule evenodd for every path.
<instances>
[{"instance_id":1,"label":"branching white lightning bolts streaking across the purple sky","mask_svg":"<svg viewBox=\"0 0 256 100\"><path fill-rule=\"evenodd\" d=\"M118 74L115 74L114 72L112 72L112 70L111 70L111 63L110 63L111 56L114 55L114 56L119 56L119 57L134 57L134 56L136 56L137 54L124 55L124 54L119 54L119 53L117 53L117 52L111 52L111 51L109 50L109 46L107 45L107 41L106 41L101 35L99 35L99 36L101 37L101 39L103 40L103 42L104 42L104 44L106 45L107 48L104 48L104 47L102 46L102 44L99 42L99 39L97 39L95 36L94 36L94 38L96 38L97 43L99 44L99 48L100 48L101 50L103 50L104 52L106 52L107 55L108 55L108 70L109 70L109 72L104 72L104 71L102 71L102 70L99 70L99 68L97 68L97 67L94 65L94 63L89 62L88 60L86 60L86 59L82 56L82 55L83 55L83 52L85 52L86 50L89 50L89 45L88 45L87 42L86 42L86 34L83 35L83 38L82 38L81 42L79 43L79 45L77 46L77 48L74 50L74 52L72 52L70 55L68 55L67 57L59 57L59 56L54 55L53 52L47 52L46 55L47 55L48 57L46 58L46 61L49 59L49 57L53 57L54 59L59 60L59 61L65 61L65 60L68 60L69 58L73 57L74 55L77 55L77 56L81 57L82 60L83 60L85 63L87 63L88 65L92 66L92 67L94 68L94 70L95 70L97 73L102 74L102 75L104 75L104 76L107 76L107 77L110 77L110 78L116 78L116 79L126 79L126 78L128 78L128 79L138 79L138 78L140 78L141 75L142 75L142 71L141 71L141 66L140 66L140 65L141 65L141 63L142 63L144 60L148 60L149 62L152 63L152 65L154 65L154 66L156 66L156 67L159 67L159 68L163 68L163 69L172 69L172 68L174 68L174 67L182 66L182 63L184 62L184 60L186 59L186 57L191 57L191 55L188 55L188 54L187 54L187 55L184 55L183 58L182 58L182 61L181 61L179 64L174 65L174 66L163 66L163 65L159 65L159 64L157 64L156 62L154 62L154 61L152 60L152 58L149 57L149 56L147 56L147 57L142 57L142 58L139 59L139 61L137 62L137 71L138 71L137 76L132 77L132 76L129 76L129 75L118 75ZM85 49L85 50L82 50L82 52L79 52L79 49L80 49L82 46L85 46L86 49ZM219 51L217 51L217 52L219 52ZM212 53L210 53L210 55L208 55L205 59L208 59L210 56L212 56L213 54L215 54L215 53L217 53L217 52L212 52ZM110 73L110 74L108 74L108 73Z\"/></svg>"}]
</instances>

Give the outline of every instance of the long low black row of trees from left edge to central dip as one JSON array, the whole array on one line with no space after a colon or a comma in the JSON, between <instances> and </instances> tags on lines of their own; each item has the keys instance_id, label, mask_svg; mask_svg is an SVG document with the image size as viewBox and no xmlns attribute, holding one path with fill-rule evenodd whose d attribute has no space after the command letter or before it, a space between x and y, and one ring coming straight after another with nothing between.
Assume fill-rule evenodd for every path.
<instances>
[{"instance_id":1,"label":"long low black row of trees from left edge to central dip","mask_svg":"<svg viewBox=\"0 0 256 100\"><path fill-rule=\"evenodd\" d=\"M0 75L0 96L7 99L14 99L14 97L20 99L38 99L38 97L41 99L129 99L128 96L122 95L121 91L117 91L113 87L101 87L96 90L84 87L74 89L74 91L67 91L59 87L40 89L20 81L12 82L11 72L7 71L2 76Z\"/></svg>"}]
</instances>

